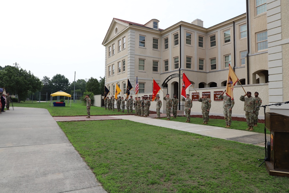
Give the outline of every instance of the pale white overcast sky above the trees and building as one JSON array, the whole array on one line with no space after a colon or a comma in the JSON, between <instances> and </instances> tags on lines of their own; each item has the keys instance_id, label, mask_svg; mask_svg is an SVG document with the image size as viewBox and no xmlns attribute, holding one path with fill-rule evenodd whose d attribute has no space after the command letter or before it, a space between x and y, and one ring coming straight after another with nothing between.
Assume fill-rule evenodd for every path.
<instances>
[{"instance_id":1,"label":"pale white overcast sky above the trees and building","mask_svg":"<svg viewBox=\"0 0 289 193\"><path fill-rule=\"evenodd\" d=\"M100 3L102 2L102 3ZM105 34L113 18L166 29L201 19L208 28L246 12L246 1L0 0L0 66L56 74L69 82L105 76Z\"/></svg>"}]
</instances>

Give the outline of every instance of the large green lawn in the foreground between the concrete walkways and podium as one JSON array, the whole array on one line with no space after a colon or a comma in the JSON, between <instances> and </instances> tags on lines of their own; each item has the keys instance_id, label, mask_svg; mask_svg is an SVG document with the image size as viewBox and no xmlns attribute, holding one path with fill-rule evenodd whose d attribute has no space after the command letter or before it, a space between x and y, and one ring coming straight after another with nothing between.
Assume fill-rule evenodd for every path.
<instances>
[{"instance_id":1,"label":"large green lawn in the foreground between the concrete walkways and podium","mask_svg":"<svg viewBox=\"0 0 289 193\"><path fill-rule=\"evenodd\" d=\"M289 192L258 167L259 146L128 120L58 124L110 193Z\"/></svg>"}]
</instances>

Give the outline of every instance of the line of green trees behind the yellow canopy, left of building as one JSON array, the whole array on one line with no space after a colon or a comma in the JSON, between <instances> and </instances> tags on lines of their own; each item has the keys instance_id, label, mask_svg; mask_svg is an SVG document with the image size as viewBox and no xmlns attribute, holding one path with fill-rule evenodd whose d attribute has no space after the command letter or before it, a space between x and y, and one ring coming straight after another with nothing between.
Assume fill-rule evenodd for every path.
<instances>
[{"instance_id":1,"label":"line of green trees behind the yellow canopy, left of building","mask_svg":"<svg viewBox=\"0 0 289 193\"><path fill-rule=\"evenodd\" d=\"M39 100L39 93L41 93L40 100L46 100L46 93L49 96L51 93L57 91L64 91L71 94L74 93L74 81L69 82L68 78L64 75L56 74L51 79L44 76L42 80L34 76L30 71L18 69L13 66L0 66L0 87L5 88L10 94L18 95L18 102L26 100L31 95L35 95L35 98ZM100 95L104 93L104 78L99 77L89 78L88 80L78 79L75 81L75 93L77 95L83 95L86 92Z\"/></svg>"}]
</instances>

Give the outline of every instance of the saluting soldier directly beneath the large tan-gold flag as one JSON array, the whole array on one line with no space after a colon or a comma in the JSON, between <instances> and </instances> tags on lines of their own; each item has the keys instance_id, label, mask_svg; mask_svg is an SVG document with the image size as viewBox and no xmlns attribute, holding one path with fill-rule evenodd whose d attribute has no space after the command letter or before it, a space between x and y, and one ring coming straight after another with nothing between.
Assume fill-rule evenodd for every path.
<instances>
[{"instance_id":1,"label":"saluting soldier directly beneath the large tan-gold flag","mask_svg":"<svg viewBox=\"0 0 289 193\"><path fill-rule=\"evenodd\" d=\"M223 94L225 91L218 96L218 99L223 99L224 119L226 122L226 127L229 128L232 123L232 108L235 104L235 101L229 96L224 96Z\"/></svg>"}]
</instances>

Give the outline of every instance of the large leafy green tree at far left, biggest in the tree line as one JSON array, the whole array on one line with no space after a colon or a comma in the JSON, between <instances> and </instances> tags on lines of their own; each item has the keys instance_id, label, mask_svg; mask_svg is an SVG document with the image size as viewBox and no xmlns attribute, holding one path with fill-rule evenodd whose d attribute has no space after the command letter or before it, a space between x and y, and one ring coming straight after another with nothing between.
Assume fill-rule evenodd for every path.
<instances>
[{"instance_id":1,"label":"large leafy green tree at far left, biggest in the tree line","mask_svg":"<svg viewBox=\"0 0 289 193\"><path fill-rule=\"evenodd\" d=\"M0 71L0 84L5 87L9 93L18 94L18 102L25 100L29 92L40 91L42 82L30 71L19 70L13 66L5 66Z\"/></svg>"}]
</instances>

